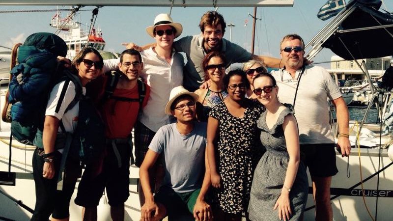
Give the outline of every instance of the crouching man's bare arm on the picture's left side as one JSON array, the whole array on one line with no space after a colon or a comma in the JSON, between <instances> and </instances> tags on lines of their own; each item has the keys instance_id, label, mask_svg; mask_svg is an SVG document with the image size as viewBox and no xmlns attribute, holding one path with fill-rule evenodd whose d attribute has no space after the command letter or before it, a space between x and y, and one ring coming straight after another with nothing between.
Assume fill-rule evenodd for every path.
<instances>
[{"instance_id":1,"label":"crouching man's bare arm on the picture's left side","mask_svg":"<svg viewBox=\"0 0 393 221\"><path fill-rule=\"evenodd\" d=\"M155 216L158 215L158 206L154 202L153 193L151 191L150 181L149 181L149 169L153 167L156 163L159 154L152 151L147 150L146 156L143 160L142 165L139 169L139 178L140 185L142 186L143 194L145 197L145 203L140 208L140 216L145 221L151 220L151 213L155 211Z\"/></svg>"}]
</instances>

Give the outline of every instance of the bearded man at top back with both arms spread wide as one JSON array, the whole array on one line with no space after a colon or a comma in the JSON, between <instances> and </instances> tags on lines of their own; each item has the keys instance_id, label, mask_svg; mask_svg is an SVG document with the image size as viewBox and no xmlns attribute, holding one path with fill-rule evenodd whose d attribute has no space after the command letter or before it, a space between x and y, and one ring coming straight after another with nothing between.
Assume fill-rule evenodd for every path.
<instances>
[{"instance_id":1,"label":"bearded man at top back with both arms spread wide","mask_svg":"<svg viewBox=\"0 0 393 221\"><path fill-rule=\"evenodd\" d=\"M199 28L201 34L182 37L173 43L176 52L184 52L187 56L183 85L190 91L197 90L203 82L202 59L211 51L221 51L225 54L226 67L232 63L246 62L251 59L262 60L268 67L279 67L280 65L280 59L253 55L239 45L224 39L226 28L224 17L216 11L206 12L199 22ZM130 43L127 48L144 50L151 45L139 47Z\"/></svg>"}]
</instances>

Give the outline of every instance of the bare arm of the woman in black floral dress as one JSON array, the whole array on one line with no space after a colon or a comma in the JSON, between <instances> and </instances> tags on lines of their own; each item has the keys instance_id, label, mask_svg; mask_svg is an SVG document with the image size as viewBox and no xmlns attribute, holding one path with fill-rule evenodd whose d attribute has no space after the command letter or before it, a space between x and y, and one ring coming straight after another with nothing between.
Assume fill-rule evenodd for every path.
<instances>
[{"instance_id":1,"label":"bare arm of the woman in black floral dress","mask_svg":"<svg viewBox=\"0 0 393 221\"><path fill-rule=\"evenodd\" d=\"M210 167L210 176L211 176L211 182L213 187L215 188L220 188L220 174L217 172L217 166L216 166L216 157L215 157L215 146L214 146L214 140L216 138L216 134L218 131L218 120L209 116L209 119L207 121L207 146L206 146L206 152L207 152L207 161L209 163Z\"/></svg>"}]
</instances>

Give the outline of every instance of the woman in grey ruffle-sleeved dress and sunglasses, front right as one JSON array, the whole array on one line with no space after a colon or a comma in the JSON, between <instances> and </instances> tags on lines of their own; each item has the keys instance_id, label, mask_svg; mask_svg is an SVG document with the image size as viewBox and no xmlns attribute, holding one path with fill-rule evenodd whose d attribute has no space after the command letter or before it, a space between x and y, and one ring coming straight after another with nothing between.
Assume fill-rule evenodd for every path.
<instances>
[{"instance_id":1,"label":"woman in grey ruffle-sleeved dress and sunglasses, front right","mask_svg":"<svg viewBox=\"0 0 393 221\"><path fill-rule=\"evenodd\" d=\"M266 153L255 168L249 218L301 220L309 190L306 167L300 161L299 131L293 107L281 104L279 87L271 74L253 80L257 100L266 108L257 121ZM272 210L278 211L272 213Z\"/></svg>"}]
</instances>

